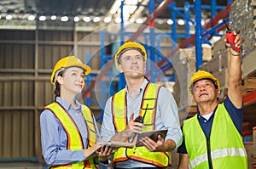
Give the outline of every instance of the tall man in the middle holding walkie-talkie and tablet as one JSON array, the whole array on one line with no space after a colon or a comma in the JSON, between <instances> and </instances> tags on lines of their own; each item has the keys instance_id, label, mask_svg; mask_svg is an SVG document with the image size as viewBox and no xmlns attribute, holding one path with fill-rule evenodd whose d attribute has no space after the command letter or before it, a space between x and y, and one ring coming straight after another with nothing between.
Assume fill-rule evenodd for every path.
<instances>
[{"instance_id":1,"label":"tall man in the middle holding walkie-talkie and tablet","mask_svg":"<svg viewBox=\"0 0 256 169\"><path fill-rule=\"evenodd\" d=\"M137 133L167 129L140 139L143 146L116 149L114 168L165 168L171 166L171 150L182 143L177 104L165 87L148 82L144 76L147 51L141 43L125 42L114 55L115 65L125 76L126 87L108 99L101 134L103 140L135 143Z\"/></svg>"}]
</instances>

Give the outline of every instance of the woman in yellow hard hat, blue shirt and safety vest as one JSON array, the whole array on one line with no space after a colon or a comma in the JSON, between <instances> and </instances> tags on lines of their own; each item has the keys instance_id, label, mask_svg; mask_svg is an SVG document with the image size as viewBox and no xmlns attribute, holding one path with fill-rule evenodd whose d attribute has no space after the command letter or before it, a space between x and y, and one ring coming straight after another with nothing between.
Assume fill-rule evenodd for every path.
<instances>
[{"instance_id":1,"label":"woman in yellow hard hat, blue shirt and safety vest","mask_svg":"<svg viewBox=\"0 0 256 169\"><path fill-rule=\"evenodd\" d=\"M55 86L55 102L45 106L40 115L41 143L44 161L50 168L96 168L99 132L89 107L75 99L84 88L84 76L90 67L74 56L60 59L50 76ZM112 148L96 151L99 161L108 165Z\"/></svg>"}]
</instances>

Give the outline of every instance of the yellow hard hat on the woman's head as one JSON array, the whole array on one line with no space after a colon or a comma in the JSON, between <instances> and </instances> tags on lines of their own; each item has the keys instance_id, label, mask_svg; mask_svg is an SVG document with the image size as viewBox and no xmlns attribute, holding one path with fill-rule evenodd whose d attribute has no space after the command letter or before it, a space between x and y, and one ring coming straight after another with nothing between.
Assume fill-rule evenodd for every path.
<instances>
[{"instance_id":1,"label":"yellow hard hat on the woman's head","mask_svg":"<svg viewBox=\"0 0 256 169\"><path fill-rule=\"evenodd\" d=\"M56 63L55 68L52 71L50 76L51 84L55 85L55 76L58 75L61 70L65 70L68 67L80 67L84 70L84 75L88 75L91 70L88 65L84 65L80 59L74 56L64 57Z\"/></svg>"}]
</instances>

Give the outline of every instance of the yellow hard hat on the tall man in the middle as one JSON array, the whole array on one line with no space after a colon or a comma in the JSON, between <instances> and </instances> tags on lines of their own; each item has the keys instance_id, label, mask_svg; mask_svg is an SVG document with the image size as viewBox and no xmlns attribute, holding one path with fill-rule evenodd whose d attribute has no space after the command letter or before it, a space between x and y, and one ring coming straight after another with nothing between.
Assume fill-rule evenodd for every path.
<instances>
[{"instance_id":1,"label":"yellow hard hat on the tall man in the middle","mask_svg":"<svg viewBox=\"0 0 256 169\"><path fill-rule=\"evenodd\" d=\"M146 52L146 49L144 48L144 46L137 42L128 41L128 42L125 42L119 48L119 50L114 54L114 63L115 63L116 68L118 68L118 65L119 65L119 56L121 56L126 51L131 50L131 49L137 50L140 53L142 53L144 56L144 61L145 62L147 61L147 52Z\"/></svg>"}]
</instances>

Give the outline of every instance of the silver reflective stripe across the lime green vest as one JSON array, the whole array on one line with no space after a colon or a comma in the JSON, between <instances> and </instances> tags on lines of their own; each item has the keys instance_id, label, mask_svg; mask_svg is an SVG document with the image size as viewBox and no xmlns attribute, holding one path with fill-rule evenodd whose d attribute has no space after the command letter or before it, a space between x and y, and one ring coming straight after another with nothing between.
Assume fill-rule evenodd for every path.
<instances>
[{"instance_id":1,"label":"silver reflective stripe across the lime green vest","mask_svg":"<svg viewBox=\"0 0 256 169\"><path fill-rule=\"evenodd\" d=\"M247 152L245 149L242 148L227 148L227 149L217 149L212 151L212 160L225 157L225 156L247 156ZM193 161L189 162L189 168L195 168L195 166L201 164L202 162L208 161L207 154L200 155L196 157Z\"/></svg>"}]
</instances>

